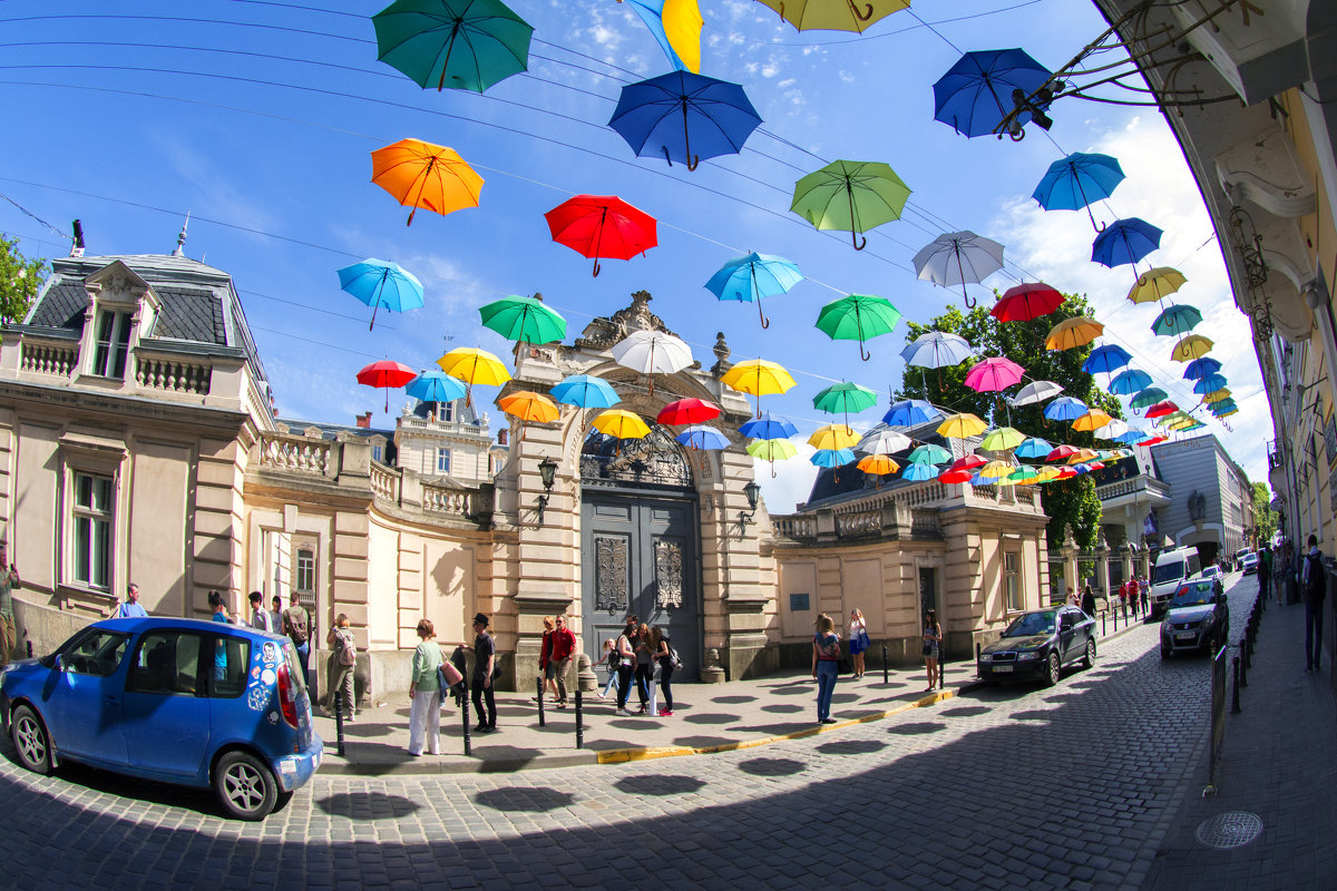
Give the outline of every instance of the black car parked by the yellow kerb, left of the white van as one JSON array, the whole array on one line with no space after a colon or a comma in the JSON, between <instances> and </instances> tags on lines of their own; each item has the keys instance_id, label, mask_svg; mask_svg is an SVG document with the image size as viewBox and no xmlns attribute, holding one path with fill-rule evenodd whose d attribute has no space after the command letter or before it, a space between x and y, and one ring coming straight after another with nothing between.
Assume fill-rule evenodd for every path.
<instances>
[{"instance_id":1,"label":"black car parked by the yellow kerb, left of the white van","mask_svg":"<svg viewBox=\"0 0 1337 891\"><path fill-rule=\"evenodd\" d=\"M1075 661L1095 665L1095 620L1076 606L1054 606L1017 616L980 651L977 671L985 681L1039 677L1052 687Z\"/></svg>"}]
</instances>

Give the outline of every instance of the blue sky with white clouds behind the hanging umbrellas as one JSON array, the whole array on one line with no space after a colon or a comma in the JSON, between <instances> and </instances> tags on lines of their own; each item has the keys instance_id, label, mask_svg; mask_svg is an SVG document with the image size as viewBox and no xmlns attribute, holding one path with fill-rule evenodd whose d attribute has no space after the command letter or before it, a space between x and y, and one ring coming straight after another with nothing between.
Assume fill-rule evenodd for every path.
<instances>
[{"instance_id":1,"label":"blue sky with white clouds behind the hanging umbrellas","mask_svg":"<svg viewBox=\"0 0 1337 891\"><path fill-rule=\"evenodd\" d=\"M429 367L456 346L505 355L477 307L507 294L541 291L575 337L644 289L705 365L717 331L735 359L786 365L798 386L770 407L810 430L830 419L812 407L813 394L840 379L884 394L876 414L860 418L876 422L904 367L902 327L861 362L854 343L813 329L818 309L849 293L885 297L916 321L959 305L957 294L916 281L910 258L939 234L969 228L1007 247L1008 266L989 286L1042 278L1087 294L1106 342L1191 405L1182 366L1169 359L1173 342L1148 330L1157 310L1124 299L1130 267L1090 262L1084 212L1046 214L1029 199L1051 162L1100 151L1119 158L1128 179L1098 216L1143 216L1166 231L1148 260L1189 277L1181 302L1203 311L1198 330L1218 342L1213 355L1242 409L1233 430L1207 429L1251 480L1266 478L1274 434L1257 359L1233 349L1249 329L1159 114L1060 100L1050 138L1031 127L1017 143L967 140L932 120L932 84L960 52L1023 47L1056 68L1104 29L1094 5L919 0L860 36L798 33L751 0L699 3L702 73L743 84L765 123L741 155L689 172L635 158L606 127L622 85L668 69L614 0L511 3L535 27L529 71L483 96L424 92L378 63L370 16L380 3L7 0L0 81L15 127L0 142L0 231L29 256L63 256L79 218L90 254L166 254L190 211L186 252L234 277L287 417L352 422L374 410L373 423L392 426L384 393L354 382L362 365ZM406 227L406 210L370 183L369 156L405 136L471 162L487 180L480 207L420 211ZM862 252L848 232L817 232L789 212L794 180L838 158L886 162L913 190L904 218L873 230ZM659 246L604 260L592 278L590 260L552 243L543 219L580 192L616 194L656 216ZM766 302L765 331L754 306L717 303L702 287L750 250L786 256L808 277ZM366 256L418 275L427 306L381 314L369 333L369 310L334 274ZM501 413L491 407L491 418L495 429ZM814 470L801 458L779 466L775 480L758 477L771 510L787 512Z\"/></svg>"}]
</instances>

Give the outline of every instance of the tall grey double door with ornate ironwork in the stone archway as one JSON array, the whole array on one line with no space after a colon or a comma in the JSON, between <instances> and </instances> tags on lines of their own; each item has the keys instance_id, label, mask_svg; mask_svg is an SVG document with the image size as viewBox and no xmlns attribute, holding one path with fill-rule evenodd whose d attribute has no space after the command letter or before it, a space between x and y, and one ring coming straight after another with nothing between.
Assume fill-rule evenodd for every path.
<instances>
[{"instance_id":1,"label":"tall grey double door with ornate ironwork in the stone archway","mask_svg":"<svg viewBox=\"0 0 1337 891\"><path fill-rule=\"evenodd\" d=\"M584 645L592 659L628 613L659 625L682 657L675 679L701 673L701 532L691 466L662 429L616 442L594 434L580 457ZM603 676L600 676L603 681ZM635 697L632 697L635 701Z\"/></svg>"}]
</instances>

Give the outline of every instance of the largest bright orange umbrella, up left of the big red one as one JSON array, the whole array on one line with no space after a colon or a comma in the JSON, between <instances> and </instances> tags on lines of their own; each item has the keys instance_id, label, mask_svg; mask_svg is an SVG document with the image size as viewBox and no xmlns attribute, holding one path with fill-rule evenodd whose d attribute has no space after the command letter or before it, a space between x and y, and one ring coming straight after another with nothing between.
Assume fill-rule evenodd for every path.
<instances>
[{"instance_id":1,"label":"largest bright orange umbrella, up left of the big red one","mask_svg":"<svg viewBox=\"0 0 1337 891\"><path fill-rule=\"evenodd\" d=\"M429 210L445 216L461 207L477 207L483 178L453 148L421 139L401 139L372 152L372 182L413 214Z\"/></svg>"}]
</instances>

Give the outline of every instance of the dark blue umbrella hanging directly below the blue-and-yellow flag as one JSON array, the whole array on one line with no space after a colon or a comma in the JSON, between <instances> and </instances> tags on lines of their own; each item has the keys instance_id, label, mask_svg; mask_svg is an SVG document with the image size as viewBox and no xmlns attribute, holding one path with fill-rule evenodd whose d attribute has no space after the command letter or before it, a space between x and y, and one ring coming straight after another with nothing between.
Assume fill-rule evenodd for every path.
<instances>
[{"instance_id":1,"label":"dark blue umbrella hanging directly below the blue-and-yellow flag","mask_svg":"<svg viewBox=\"0 0 1337 891\"><path fill-rule=\"evenodd\" d=\"M689 71L627 84L608 120L636 156L663 155L687 170L702 158L737 155L759 124L742 87Z\"/></svg>"}]
</instances>

